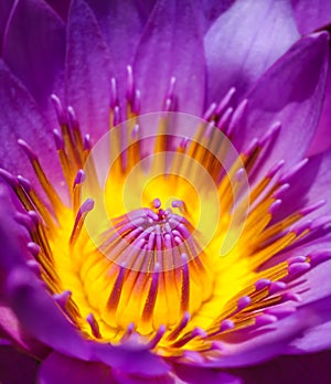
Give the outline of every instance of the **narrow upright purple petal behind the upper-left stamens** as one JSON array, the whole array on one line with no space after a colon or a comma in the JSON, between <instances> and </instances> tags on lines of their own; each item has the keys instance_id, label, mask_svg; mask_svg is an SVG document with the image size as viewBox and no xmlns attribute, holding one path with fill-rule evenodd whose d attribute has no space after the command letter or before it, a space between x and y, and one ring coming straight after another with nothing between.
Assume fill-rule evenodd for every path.
<instances>
[{"instance_id":1,"label":"narrow upright purple petal behind the upper-left stamens","mask_svg":"<svg viewBox=\"0 0 331 384\"><path fill-rule=\"evenodd\" d=\"M108 129L109 52L97 20L82 0L74 0L67 22L66 95L82 129L94 138Z\"/></svg>"}]
</instances>

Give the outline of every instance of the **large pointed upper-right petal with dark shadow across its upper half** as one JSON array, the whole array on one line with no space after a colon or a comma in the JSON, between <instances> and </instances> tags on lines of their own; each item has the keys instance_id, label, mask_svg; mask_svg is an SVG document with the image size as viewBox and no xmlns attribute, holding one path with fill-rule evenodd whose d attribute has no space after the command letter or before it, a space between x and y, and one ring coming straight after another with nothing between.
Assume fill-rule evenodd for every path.
<instances>
[{"instance_id":1,"label":"large pointed upper-right petal with dark shadow across its upper half","mask_svg":"<svg viewBox=\"0 0 331 384\"><path fill-rule=\"evenodd\" d=\"M275 122L282 125L273 148L268 148L263 170L280 159L289 167L306 153L322 107L328 58L328 33L303 38L249 92L247 124L235 138L237 145L244 141L248 146Z\"/></svg>"}]
</instances>

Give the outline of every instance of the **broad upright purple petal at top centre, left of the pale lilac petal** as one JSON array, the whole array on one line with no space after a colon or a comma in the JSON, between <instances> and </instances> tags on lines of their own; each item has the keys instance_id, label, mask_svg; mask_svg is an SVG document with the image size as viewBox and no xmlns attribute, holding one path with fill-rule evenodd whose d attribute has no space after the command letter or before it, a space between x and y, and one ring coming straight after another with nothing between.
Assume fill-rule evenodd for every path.
<instances>
[{"instance_id":1,"label":"broad upright purple petal at top centre, left of the pale lilac petal","mask_svg":"<svg viewBox=\"0 0 331 384\"><path fill-rule=\"evenodd\" d=\"M204 51L197 12L190 1L158 1L145 29L134 74L141 111L162 110L171 77L178 109L201 116L204 105Z\"/></svg>"}]
</instances>

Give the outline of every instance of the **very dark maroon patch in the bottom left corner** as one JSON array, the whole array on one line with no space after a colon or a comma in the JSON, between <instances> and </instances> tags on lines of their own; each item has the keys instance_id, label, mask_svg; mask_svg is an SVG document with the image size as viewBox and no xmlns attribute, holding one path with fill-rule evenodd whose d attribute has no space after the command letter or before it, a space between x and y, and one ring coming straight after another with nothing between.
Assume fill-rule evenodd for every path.
<instances>
[{"instance_id":1,"label":"very dark maroon patch in the bottom left corner","mask_svg":"<svg viewBox=\"0 0 331 384\"><path fill-rule=\"evenodd\" d=\"M1 384L34 384L38 369L39 363L34 359L11 346L0 345Z\"/></svg>"}]
</instances>

